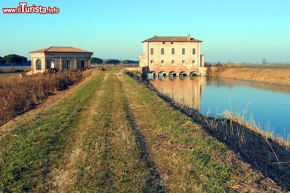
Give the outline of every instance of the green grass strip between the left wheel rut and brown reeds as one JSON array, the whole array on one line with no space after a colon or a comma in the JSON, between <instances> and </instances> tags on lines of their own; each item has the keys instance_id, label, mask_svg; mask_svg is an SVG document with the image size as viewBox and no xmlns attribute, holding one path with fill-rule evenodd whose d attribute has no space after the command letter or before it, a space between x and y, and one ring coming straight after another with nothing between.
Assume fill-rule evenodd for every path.
<instances>
[{"instance_id":1,"label":"green grass strip between the left wheel rut and brown reeds","mask_svg":"<svg viewBox=\"0 0 290 193\"><path fill-rule=\"evenodd\" d=\"M44 181L77 130L76 121L104 77L100 73L66 100L40 112L0 141L0 192L45 191Z\"/></svg>"}]
</instances>

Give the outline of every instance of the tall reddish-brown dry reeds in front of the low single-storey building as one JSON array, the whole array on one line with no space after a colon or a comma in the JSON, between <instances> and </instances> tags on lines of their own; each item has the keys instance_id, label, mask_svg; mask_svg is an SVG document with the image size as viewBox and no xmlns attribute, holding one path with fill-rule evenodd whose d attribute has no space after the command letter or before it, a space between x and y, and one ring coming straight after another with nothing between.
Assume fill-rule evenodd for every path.
<instances>
[{"instance_id":1,"label":"tall reddish-brown dry reeds in front of the low single-storey building","mask_svg":"<svg viewBox=\"0 0 290 193\"><path fill-rule=\"evenodd\" d=\"M0 126L13 116L41 103L57 90L64 90L83 79L80 71L33 74L0 79Z\"/></svg>"}]
</instances>

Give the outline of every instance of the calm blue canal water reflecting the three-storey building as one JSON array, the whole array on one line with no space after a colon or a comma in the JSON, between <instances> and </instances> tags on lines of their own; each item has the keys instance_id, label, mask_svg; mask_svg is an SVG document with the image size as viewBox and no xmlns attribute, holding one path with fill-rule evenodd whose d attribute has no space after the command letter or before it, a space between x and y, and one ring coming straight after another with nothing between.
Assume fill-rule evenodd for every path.
<instances>
[{"instance_id":1,"label":"calm blue canal water reflecting the three-storey building","mask_svg":"<svg viewBox=\"0 0 290 193\"><path fill-rule=\"evenodd\" d=\"M290 87L268 83L216 77L154 77L151 83L162 93L202 109L210 109L215 116L227 109L233 112L248 111L256 124L269 126L275 134L290 133ZM268 126L267 126L268 125Z\"/></svg>"}]
</instances>

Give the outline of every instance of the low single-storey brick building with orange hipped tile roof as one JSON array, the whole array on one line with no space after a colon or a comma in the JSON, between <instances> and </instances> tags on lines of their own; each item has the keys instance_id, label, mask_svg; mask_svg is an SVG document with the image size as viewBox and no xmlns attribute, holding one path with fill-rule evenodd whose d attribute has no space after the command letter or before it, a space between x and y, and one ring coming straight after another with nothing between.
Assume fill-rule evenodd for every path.
<instances>
[{"instance_id":1,"label":"low single-storey brick building with orange hipped tile roof","mask_svg":"<svg viewBox=\"0 0 290 193\"><path fill-rule=\"evenodd\" d=\"M44 72L47 69L83 69L90 68L93 52L73 47L48 47L29 52L31 55L32 73Z\"/></svg>"}]
</instances>

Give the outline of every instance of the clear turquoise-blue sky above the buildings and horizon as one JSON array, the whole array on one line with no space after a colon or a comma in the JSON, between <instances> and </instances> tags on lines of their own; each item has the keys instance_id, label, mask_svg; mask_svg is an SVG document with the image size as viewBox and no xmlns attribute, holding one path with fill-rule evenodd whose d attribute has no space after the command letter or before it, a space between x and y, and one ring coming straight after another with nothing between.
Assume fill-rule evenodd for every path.
<instances>
[{"instance_id":1,"label":"clear turquoise-blue sky above the buildings and horizon","mask_svg":"<svg viewBox=\"0 0 290 193\"><path fill-rule=\"evenodd\" d=\"M202 40L205 62L290 62L290 1L27 0L58 14L3 14L19 1L0 1L0 56L71 46L93 57L138 60L142 41L157 36Z\"/></svg>"}]
</instances>

